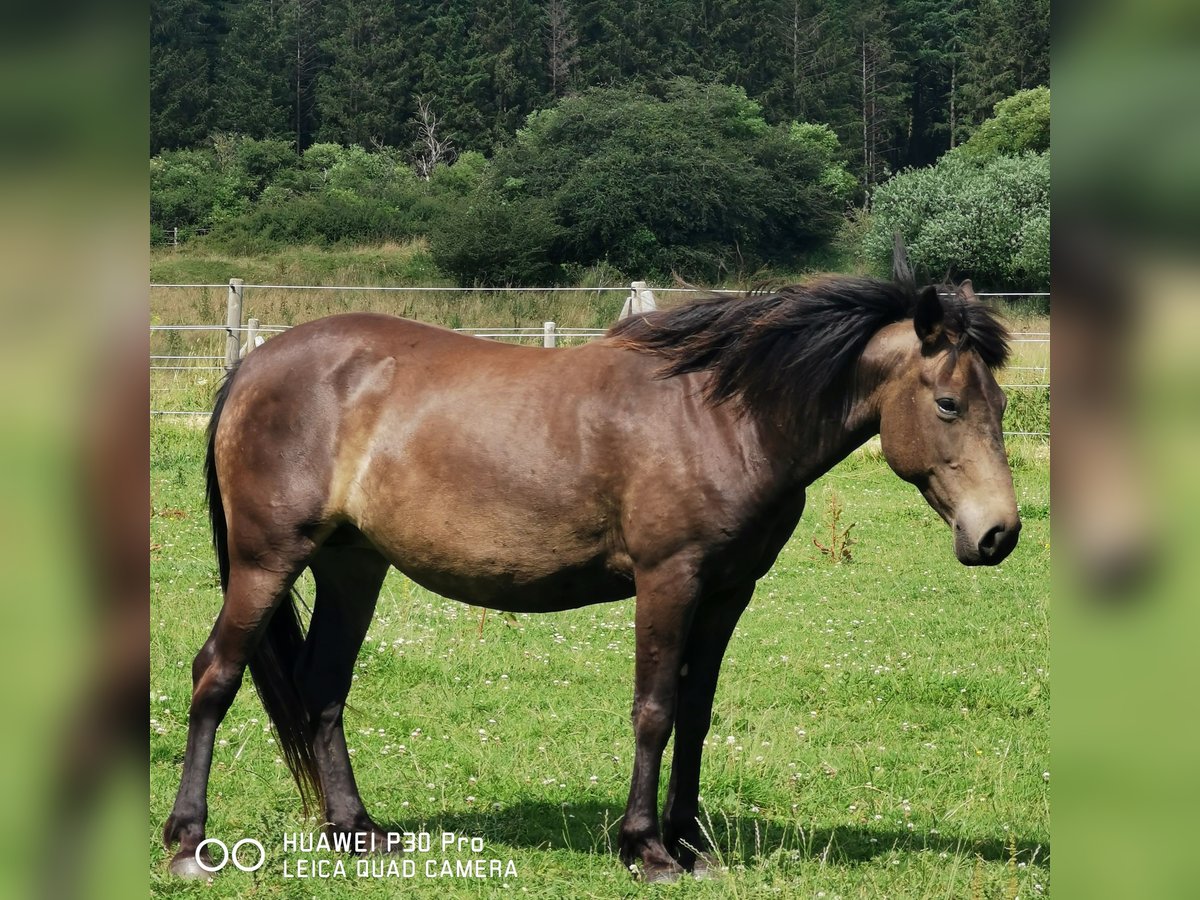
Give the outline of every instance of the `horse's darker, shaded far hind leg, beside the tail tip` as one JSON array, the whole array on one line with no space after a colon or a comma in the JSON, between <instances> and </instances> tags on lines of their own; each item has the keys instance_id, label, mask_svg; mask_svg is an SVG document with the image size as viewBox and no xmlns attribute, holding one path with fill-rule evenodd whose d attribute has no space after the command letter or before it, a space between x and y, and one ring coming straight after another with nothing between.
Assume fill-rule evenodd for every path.
<instances>
[{"instance_id":1,"label":"horse's darker, shaded far hind leg, beside the tail tip","mask_svg":"<svg viewBox=\"0 0 1200 900\"><path fill-rule=\"evenodd\" d=\"M388 563L371 548L325 546L311 568L317 600L296 680L314 727L325 821L330 830L373 833L382 841L354 781L342 710Z\"/></svg>"}]
</instances>

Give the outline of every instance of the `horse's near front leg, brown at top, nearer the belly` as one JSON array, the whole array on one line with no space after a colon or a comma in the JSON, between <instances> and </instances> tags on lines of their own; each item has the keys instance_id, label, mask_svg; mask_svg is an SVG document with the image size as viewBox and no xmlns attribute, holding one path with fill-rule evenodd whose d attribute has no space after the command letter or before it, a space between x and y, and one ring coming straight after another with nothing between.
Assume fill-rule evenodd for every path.
<instances>
[{"instance_id":1,"label":"horse's near front leg, brown at top, nearer the belly","mask_svg":"<svg viewBox=\"0 0 1200 900\"><path fill-rule=\"evenodd\" d=\"M634 776L620 824L620 858L642 860L648 882L673 881L683 869L662 846L658 797L662 751L674 726L679 662L695 612L697 584L690 565L638 572L635 614Z\"/></svg>"}]
</instances>

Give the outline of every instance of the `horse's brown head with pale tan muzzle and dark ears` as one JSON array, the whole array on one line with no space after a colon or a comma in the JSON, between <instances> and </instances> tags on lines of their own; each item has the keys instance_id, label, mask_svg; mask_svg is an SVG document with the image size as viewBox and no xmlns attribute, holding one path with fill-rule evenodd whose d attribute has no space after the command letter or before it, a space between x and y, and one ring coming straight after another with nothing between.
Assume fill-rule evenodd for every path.
<instances>
[{"instance_id":1,"label":"horse's brown head with pale tan muzzle and dark ears","mask_svg":"<svg viewBox=\"0 0 1200 900\"><path fill-rule=\"evenodd\" d=\"M995 565L1021 529L1001 432L1008 401L992 374L1007 334L971 282L924 288L911 326L892 332L880 396L883 455L954 530L961 563Z\"/></svg>"}]
</instances>

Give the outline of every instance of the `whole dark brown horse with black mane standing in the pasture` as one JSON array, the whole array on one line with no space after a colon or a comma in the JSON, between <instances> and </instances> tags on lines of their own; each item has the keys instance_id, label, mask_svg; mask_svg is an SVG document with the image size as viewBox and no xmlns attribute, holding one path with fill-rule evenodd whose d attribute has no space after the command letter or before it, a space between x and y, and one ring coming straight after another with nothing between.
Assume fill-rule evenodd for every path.
<instances>
[{"instance_id":1,"label":"whole dark brown horse with black mane standing in the pasture","mask_svg":"<svg viewBox=\"0 0 1200 900\"><path fill-rule=\"evenodd\" d=\"M620 854L702 872L701 744L718 670L804 491L869 437L954 533L1001 562L1020 522L992 370L1006 332L970 284L828 278L625 319L559 350L347 314L254 350L221 388L209 504L224 606L192 666L163 838L197 846L217 724L248 665L301 793L378 832L342 732L389 566L517 612L637 595L636 754ZM307 637L289 589L310 568ZM659 828L662 751L676 734Z\"/></svg>"}]
</instances>

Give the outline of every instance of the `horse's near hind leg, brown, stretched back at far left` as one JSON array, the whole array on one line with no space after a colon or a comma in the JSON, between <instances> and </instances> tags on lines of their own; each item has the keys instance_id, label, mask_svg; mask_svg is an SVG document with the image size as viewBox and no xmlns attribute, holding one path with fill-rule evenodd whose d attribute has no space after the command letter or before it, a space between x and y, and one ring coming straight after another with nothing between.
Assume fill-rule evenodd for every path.
<instances>
[{"instance_id":1,"label":"horse's near hind leg, brown, stretched back at far left","mask_svg":"<svg viewBox=\"0 0 1200 900\"><path fill-rule=\"evenodd\" d=\"M187 720L184 775L167 824L163 845L179 841L170 870L184 877L205 877L197 863L208 821L209 769L217 726L229 710L251 655L295 576L256 565L234 564L224 605L208 641L192 662L192 706Z\"/></svg>"}]
</instances>

